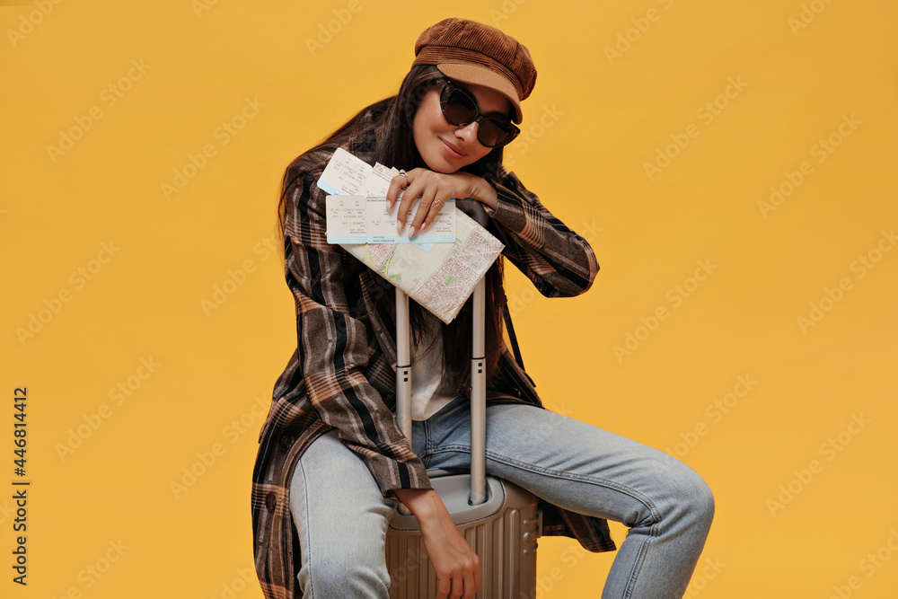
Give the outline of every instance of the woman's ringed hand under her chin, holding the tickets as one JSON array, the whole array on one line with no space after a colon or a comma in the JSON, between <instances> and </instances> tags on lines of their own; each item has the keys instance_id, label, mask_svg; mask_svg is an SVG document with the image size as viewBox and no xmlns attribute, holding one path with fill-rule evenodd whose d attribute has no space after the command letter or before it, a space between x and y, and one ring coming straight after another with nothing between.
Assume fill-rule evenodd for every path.
<instances>
[{"instance_id":1,"label":"woman's ringed hand under her chin, holding the tickets","mask_svg":"<svg viewBox=\"0 0 898 599\"><path fill-rule=\"evenodd\" d=\"M387 210L392 210L400 190L405 188L396 212L396 231L401 233L409 217L412 203L415 198L421 198L418 210L409 222L409 237L427 230L447 199L473 198L489 207L496 207L496 189L484 179L469 172L445 174L415 169L406 174L408 181L405 175L397 175L390 181L390 188L387 189Z\"/></svg>"}]
</instances>

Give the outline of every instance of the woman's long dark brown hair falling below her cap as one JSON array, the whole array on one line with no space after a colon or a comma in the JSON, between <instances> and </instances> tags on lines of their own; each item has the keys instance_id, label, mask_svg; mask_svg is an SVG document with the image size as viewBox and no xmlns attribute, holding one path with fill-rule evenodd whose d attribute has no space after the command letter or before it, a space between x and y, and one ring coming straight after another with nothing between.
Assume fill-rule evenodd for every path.
<instances>
[{"instance_id":1,"label":"woman's long dark brown hair falling below her cap","mask_svg":"<svg viewBox=\"0 0 898 599\"><path fill-rule=\"evenodd\" d=\"M371 162L387 166L404 168L407 171L421 167L427 163L418 153L412 135L412 124L418 106L424 96L434 88L436 80L445 78L436 66L412 66L409 74L402 81L399 93L390 98L374 102L360 110L339 129L300 155L286 169L280 203L277 207L278 226L281 236L284 234L286 221L286 189L293 181L287 181L292 172L308 172L321 168L322 151L333 152L340 146L347 146L352 151L354 146L364 147L365 154L370 153ZM483 179L496 182L499 167L502 164L502 148L493 148L489 154L476 163L462 167L462 172L470 172ZM506 296L502 288L502 257L489 269L486 276L486 348L487 376L496 372L499 348L502 343L502 316L505 311ZM377 300L385 307L392 304L393 294L382 294ZM433 335L434 342L442 338L443 342L443 383L451 384L456 392L466 392L470 384L471 374L471 299L464 304L453 322L444 325L435 316L427 313L416 302L409 303L409 321L413 331L414 342L418 344L426 335L439 331L442 335ZM441 326L443 325L443 326Z\"/></svg>"}]
</instances>

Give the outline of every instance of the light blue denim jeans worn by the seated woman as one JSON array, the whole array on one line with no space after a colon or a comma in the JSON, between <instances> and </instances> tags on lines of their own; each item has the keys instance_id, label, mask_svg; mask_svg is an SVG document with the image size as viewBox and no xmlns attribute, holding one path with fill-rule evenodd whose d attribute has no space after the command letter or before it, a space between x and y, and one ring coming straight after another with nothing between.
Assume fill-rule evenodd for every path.
<instances>
[{"instance_id":1,"label":"light blue denim jeans worn by the seated woman","mask_svg":"<svg viewBox=\"0 0 898 599\"><path fill-rule=\"evenodd\" d=\"M468 401L457 398L413 423L412 447L428 468L466 468L468 423ZM629 526L603 599L679 599L685 593L714 498L682 462L574 418L497 404L487 406L487 472L556 506ZM297 578L307 599L388 597L383 549L396 504L383 497L365 462L336 431L310 445L290 485L303 554Z\"/></svg>"}]
</instances>

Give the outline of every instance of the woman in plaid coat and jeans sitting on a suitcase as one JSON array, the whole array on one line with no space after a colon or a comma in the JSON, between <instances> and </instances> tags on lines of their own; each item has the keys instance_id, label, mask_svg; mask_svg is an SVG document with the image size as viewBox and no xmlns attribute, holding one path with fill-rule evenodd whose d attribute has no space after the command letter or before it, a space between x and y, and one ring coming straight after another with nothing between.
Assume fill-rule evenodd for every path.
<instances>
[{"instance_id":1,"label":"woman in plaid coat and jeans sitting on a suitcase","mask_svg":"<svg viewBox=\"0 0 898 599\"><path fill-rule=\"evenodd\" d=\"M280 222L297 348L260 433L252 498L256 569L270 598L386 597L383 543L397 501L418 518L438 596L472 597L480 586L477 557L425 471L469 463L470 305L449 325L411 305L415 358L430 366L416 368L429 377L413 391L411 444L394 415L392 286L325 242L326 194L315 181L333 152L407 169L387 201L404 189L397 228L410 235L448 198L480 201L505 258L543 295L583 293L598 270L589 244L501 167L536 81L527 49L489 26L446 19L421 34L415 53L396 96L286 170ZM487 287L488 473L542 499L544 534L610 551L605 519L630 527L603 597L681 597L713 515L708 486L674 458L543 410L502 341L501 258Z\"/></svg>"}]
</instances>

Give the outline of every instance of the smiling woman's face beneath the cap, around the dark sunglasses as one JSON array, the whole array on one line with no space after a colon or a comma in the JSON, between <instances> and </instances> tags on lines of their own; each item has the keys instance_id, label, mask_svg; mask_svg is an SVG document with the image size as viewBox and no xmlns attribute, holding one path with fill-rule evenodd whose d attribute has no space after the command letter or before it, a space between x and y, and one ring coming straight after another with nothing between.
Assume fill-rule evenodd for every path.
<instances>
[{"instance_id":1,"label":"smiling woman's face beneath the cap, around the dark sunglasses","mask_svg":"<svg viewBox=\"0 0 898 599\"><path fill-rule=\"evenodd\" d=\"M511 102L496 90L480 85L465 84L463 87L477 101L480 114L507 115L511 112ZM477 141L479 123L456 127L443 117L440 92L441 88L437 87L425 94L412 121L412 133L418 153L427 163L427 168L448 174L458 171L462 166L476 163L489 154L492 148Z\"/></svg>"}]
</instances>

